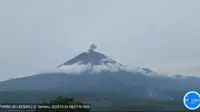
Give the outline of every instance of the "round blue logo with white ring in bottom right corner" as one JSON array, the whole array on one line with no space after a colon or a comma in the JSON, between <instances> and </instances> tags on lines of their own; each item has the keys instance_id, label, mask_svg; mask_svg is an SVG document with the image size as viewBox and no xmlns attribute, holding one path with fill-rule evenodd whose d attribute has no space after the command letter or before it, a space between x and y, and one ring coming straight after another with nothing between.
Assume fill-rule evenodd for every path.
<instances>
[{"instance_id":1,"label":"round blue logo with white ring in bottom right corner","mask_svg":"<svg viewBox=\"0 0 200 112\"><path fill-rule=\"evenodd\" d=\"M196 91L187 92L183 98L183 103L189 110L196 110L200 107L200 94Z\"/></svg>"}]
</instances>

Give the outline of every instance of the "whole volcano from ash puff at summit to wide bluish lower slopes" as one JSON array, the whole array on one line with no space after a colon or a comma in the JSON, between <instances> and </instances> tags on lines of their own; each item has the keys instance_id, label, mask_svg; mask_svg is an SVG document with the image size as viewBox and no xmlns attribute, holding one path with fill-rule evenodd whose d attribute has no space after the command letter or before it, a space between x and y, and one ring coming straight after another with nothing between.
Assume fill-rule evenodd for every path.
<instances>
[{"instance_id":1,"label":"whole volcano from ash puff at summit to wide bluish lower slopes","mask_svg":"<svg viewBox=\"0 0 200 112\"><path fill-rule=\"evenodd\" d=\"M74 95L93 103L99 99L113 103L119 96L130 100L181 101L190 90L200 92L199 78L164 77L154 75L148 68L130 70L94 48L92 45L88 52L59 65L56 72L1 82L0 101L38 102L59 94ZM36 94L30 96L30 91Z\"/></svg>"}]
</instances>

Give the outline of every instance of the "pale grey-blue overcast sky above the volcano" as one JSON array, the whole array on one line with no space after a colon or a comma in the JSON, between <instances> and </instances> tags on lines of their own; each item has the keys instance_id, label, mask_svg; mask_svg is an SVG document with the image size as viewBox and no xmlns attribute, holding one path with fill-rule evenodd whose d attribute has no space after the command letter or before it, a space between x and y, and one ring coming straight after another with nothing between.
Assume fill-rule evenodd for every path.
<instances>
[{"instance_id":1,"label":"pale grey-blue overcast sky above the volcano","mask_svg":"<svg viewBox=\"0 0 200 112\"><path fill-rule=\"evenodd\" d=\"M0 0L0 80L87 51L161 74L200 76L199 0Z\"/></svg>"}]
</instances>

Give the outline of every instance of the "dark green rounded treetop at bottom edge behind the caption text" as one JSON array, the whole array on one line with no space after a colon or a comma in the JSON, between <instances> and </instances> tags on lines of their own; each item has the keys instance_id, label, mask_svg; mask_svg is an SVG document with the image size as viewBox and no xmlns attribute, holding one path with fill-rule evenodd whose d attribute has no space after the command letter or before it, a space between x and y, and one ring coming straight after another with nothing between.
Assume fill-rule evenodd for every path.
<instances>
[{"instance_id":1,"label":"dark green rounded treetop at bottom edge behind the caption text","mask_svg":"<svg viewBox=\"0 0 200 112\"><path fill-rule=\"evenodd\" d=\"M49 101L49 102L43 102L41 105L44 106L72 106L74 108L71 107L64 107L64 108L58 108L58 109L37 109L36 112L89 112L90 109L89 108L85 108L85 106L87 106L86 104L83 104L81 102L75 101L73 98L67 98L67 97L63 97L63 96L59 96L57 97L55 100ZM85 106L84 106L85 105Z\"/></svg>"}]
</instances>

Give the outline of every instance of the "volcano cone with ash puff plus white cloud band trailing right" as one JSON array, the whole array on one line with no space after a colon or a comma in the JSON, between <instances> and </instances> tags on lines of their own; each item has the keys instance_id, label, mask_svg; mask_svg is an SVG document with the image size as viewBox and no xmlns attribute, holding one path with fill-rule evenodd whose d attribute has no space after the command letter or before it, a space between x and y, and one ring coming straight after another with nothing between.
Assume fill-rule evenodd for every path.
<instances>
[{"instance_id":1,"label":"volcano cone with ash puff plus white cloud band trailing right","mask_svg":"<svg viewBox=\"0 0 200 112\"><path fill-rule=\"evenodd\" d=\"M82 72L140 72L143 74L151 74L152 70L147 68L127 68L126 66L114 61L108 56L96 52L97 46L95 44L90 45L87 52L83 52L76 57L66 61L59 65L57 68L61 68L61 71L67 73L82 73Z\"/></svg>"}]
</instances>

